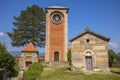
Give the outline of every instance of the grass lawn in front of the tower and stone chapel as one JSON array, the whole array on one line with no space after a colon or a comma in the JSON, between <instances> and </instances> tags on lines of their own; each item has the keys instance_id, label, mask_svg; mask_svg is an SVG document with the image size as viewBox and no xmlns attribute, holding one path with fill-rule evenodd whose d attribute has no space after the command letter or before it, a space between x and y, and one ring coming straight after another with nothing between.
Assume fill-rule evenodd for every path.
<instances>
[{"instance_id":1,"label":"grass lawn in front of the tower and stone chapel","mask_svg":"<svg viewBox=\"0 0 120 80\"><path fill-rule=\"evenodd\" d=\"M120 74L96 73L86 75L80 72L69 72L65 67L45 67L43 73L41 74L41 80L120 80Z\"/></svg>"}]
</instances>

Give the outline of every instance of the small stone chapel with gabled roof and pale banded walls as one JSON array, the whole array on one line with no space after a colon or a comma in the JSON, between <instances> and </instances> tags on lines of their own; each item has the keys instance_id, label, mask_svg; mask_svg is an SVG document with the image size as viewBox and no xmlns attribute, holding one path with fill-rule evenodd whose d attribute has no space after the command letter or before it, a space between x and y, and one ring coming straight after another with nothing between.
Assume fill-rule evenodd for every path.
<instances>
[{"instance_id":1,"label":"small stone chapel with gabled roof and pale banded walls","mask_svg":"<svg viewBox=\"0 0 120 80\"><path fill-rule=\"evenodd\" d=\"M109 38L86 28L86 31L70 40L72 70L109 71Z\"/></svg>"}]
</instances>

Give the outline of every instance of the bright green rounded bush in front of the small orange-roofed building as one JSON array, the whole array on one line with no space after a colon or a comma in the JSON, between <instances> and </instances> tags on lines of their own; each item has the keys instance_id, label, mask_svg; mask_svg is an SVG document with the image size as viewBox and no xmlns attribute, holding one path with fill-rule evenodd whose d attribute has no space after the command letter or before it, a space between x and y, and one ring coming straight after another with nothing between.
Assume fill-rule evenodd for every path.
<instances>
[{"instance_id":1,"label":"bright green rounded bush in front of the small orange-roofed building","mask_svg":"<svg viewBox=\"0 0 120 80\"><path fill-rule=\"evenodd\" d=\"M43 72L43 66L40 63L33 63L30 65L27 71L23 75L23 80L39 80L41 73Z\"/></svg>"}]
</instances>

